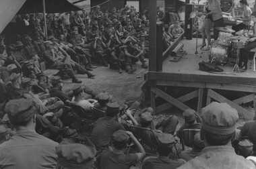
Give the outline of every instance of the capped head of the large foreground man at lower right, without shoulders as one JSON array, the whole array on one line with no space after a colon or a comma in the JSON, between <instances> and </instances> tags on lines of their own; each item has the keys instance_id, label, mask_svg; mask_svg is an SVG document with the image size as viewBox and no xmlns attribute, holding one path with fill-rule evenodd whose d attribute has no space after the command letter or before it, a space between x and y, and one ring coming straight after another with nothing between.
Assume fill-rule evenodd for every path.
<instances>
[{"instance_id":1,"label":"capped head of the large foreground man at lower right, without shoulders","mask_svg":"<svg viewBox=\"0 0 256 169\"><path fill-rule=\"evenodd\" d=\"M210 146L224 146L235 135L238 113L227 103L212 102L201 111L201 139L206 139Z\"/></svg>"}]
</instances>

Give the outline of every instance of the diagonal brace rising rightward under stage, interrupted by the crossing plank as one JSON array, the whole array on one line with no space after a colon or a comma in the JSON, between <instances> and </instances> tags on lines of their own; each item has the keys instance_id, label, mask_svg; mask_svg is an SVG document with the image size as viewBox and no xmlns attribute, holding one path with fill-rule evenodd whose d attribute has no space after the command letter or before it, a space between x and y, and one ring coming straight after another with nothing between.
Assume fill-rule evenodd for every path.
<instances>
[{"instance_id":1,"label":"diagonal brace rising rightward under stage, interrupted by the crossing plank","mask_svg":"<svg viewBox=\"0 0 256 169\"><path fill-rule=\"evenodd\" d=\"M177 98L178 101L181 101L182 103L189 101L191 99L194 99L195 97L198 97L199 90L193 91L191 93L188 93L187 95L183 95L182 97ZM164 103L162 105L159 105L156 107L156 114L160 113L162 111L165 111L166 109L172 108L173 105L170 103Z\"/></svg>"}]
</instances>

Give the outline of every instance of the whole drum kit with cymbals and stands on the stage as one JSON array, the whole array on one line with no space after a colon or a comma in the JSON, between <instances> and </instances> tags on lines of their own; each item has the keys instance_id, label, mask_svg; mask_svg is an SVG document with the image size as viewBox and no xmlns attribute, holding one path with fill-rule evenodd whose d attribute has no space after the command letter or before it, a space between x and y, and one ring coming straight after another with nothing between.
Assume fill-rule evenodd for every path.
<instances>
[{"instance_id":1,"label":"whole drum kit with cymbals and stands on the stage","mask_svg":"<svg viewBox=\"0 0 256 169\"><path fill-rule=\"evenodd\" d=\"M224 65L234 62L235 72L240 72L238 68L240 50L245 48L249 42L247 36L233 36L234 30L227 27L216 27L220 31L218 40L212 42L209 50L209 62Z\"/></svg>"}]
</instances>

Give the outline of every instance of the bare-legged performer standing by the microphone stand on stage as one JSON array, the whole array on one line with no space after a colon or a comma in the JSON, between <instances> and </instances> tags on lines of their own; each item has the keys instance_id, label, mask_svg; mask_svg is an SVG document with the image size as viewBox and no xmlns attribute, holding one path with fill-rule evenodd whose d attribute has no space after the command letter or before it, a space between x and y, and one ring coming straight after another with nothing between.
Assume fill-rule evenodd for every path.
<instances>
[{"instance_id":1,"label":"bare-legged performer standing by the microphone stand on stage","mask_svg":"<svg viewBox=\"0 0 256 169\"><path fill-rule=\"evenodd\" d=\"M210 10L209 10L210 1L211 0L207 0L203 7L203 12L204 12L204 15L206 15L206 17L204 19L203 26L199 30L201 32L202 38L203 38L203 41L202 41L203 43L200 48L201 50L209 50L210 49L210 43L211 43L210 30L214 26L214 22L212 21L212 15L208 14L208 13L210 13ZM207 38L207 46L205 43L205 38Z\"/></svg>"}]
</instances>

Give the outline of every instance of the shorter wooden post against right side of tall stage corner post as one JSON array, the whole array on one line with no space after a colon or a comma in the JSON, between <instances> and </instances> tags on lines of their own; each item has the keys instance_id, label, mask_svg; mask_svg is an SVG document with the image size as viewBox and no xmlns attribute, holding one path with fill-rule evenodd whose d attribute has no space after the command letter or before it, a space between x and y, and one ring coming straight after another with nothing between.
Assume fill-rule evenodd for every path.
<instances>
[{"instance_id":1,"label":"shorter wooden post against right side of tall stage corner post","mask_svg":"<svg viewBox=\"0 0 256 169\"><path fill-rule=\"evenodd\" d=\"M162 72L162 21L156 23L156 71Z\"/></svg>"}]
</instances>

